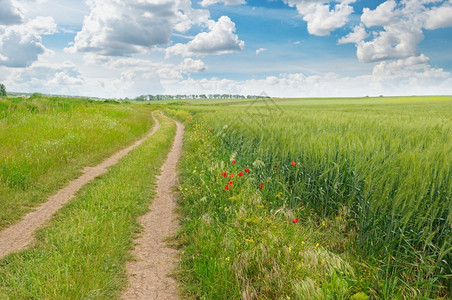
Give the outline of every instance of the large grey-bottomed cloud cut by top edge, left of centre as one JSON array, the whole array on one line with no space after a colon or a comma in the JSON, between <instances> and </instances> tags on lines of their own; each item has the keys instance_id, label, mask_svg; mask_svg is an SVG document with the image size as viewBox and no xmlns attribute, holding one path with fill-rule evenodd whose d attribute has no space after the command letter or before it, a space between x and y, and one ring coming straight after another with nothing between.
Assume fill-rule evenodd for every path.
<instances>
[{"instance_id":1,"label":"large grey-bottomed cloud cut by top edge, left of centre","mask_svg":"<svg viewBox=\"0 0 452 300\"><path fill-rule=\"evenodd\" d=\"M170 42L173 31L184 32L207 22L209 12L189 0L89 0L91 12L68 51L128 56Z\"/></svg>"}]
</instances>

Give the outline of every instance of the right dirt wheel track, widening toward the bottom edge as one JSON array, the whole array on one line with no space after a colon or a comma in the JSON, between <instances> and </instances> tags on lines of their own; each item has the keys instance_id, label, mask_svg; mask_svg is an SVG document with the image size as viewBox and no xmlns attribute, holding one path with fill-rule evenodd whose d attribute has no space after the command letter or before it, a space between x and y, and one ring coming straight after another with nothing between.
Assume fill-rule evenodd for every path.
<instances>
[{"instance_id":1,"label":"right dirt wheel track, widening toward the bottom edge","mask_svg":"<svg viewBox=\"0 0 452 300\"><path fill-rule=\"evenodd\" d=\"M150 206L150 212L139 220L143 226L141 236L133 250L136 261L127 264L129 287L123 293L124 299L177 299L176 282L167 274L177 263L176 250L168 248L164 239L176 232L178 227L176 195L176 164L179 160L184 126L176 122L177 131L173 147L158 176L157 195Z\"/></svg>"}]
</instances>

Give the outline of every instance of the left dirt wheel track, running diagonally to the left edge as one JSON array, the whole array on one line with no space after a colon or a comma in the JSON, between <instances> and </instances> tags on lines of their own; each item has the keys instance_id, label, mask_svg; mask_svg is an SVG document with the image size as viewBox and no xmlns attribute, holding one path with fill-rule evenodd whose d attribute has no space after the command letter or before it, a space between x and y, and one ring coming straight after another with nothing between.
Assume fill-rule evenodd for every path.
<instances>
[{"instance_id":1,"label":"left dirt wheel track, running diagonally to the left edge","mask_svg":"<svg viewBox=\"0 0 452 300\"><path fill-rule=\"evenodd\" d=\"M106 173L109 167L115 165L122 157L153 135L159 129L160 123L154 117L154 114L152 114L152 118L155 121L154 128L144 138L135 142L132 146L117 152L100 165L85 168L83 170L83 175L71 181L68 186L51 196L47 202L43 203L35 211L25 215L22 221L1 231L0 259L12 252L17 252L29 246L34 240L33 233L36 229L41 227L56 211L72 199L82 186L97 176Z\"/></svg>"}]
</instances>

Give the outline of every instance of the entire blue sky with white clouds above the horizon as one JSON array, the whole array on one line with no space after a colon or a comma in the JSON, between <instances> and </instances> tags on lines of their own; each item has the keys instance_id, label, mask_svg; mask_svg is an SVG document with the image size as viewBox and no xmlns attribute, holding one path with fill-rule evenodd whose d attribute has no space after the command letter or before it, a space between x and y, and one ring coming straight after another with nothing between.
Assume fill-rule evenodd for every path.
<instances>
[{"instance_id":1,"label":"entire blue sky with white clouds above the horizon","mask_svg":"<svg viewBox=\"0 0 452 300\"><path fill-rule=\"evenodd\" d=\"M9 91L452 94L452 0L0 0Z\"/></svg>"}]
</instances>

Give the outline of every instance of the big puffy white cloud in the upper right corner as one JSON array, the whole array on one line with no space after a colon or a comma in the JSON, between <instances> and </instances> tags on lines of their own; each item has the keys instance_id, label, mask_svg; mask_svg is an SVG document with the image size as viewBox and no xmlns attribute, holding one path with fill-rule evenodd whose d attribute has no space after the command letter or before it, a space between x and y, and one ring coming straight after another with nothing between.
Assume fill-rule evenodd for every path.
<instances>
[{"instance_id":1,"label":"big puffy white cloud in the upper right corner","mask_svg":"<svg viewBox=\"0 0 452 300\"><path fill-rule=\"evenodd\" d=\"M361 62L405 59L421 55L425 29L447 26L452 26L451 1L387 0L364 8L361 25L338 42L354 43Z\"/></svg>"}]
</instances>

